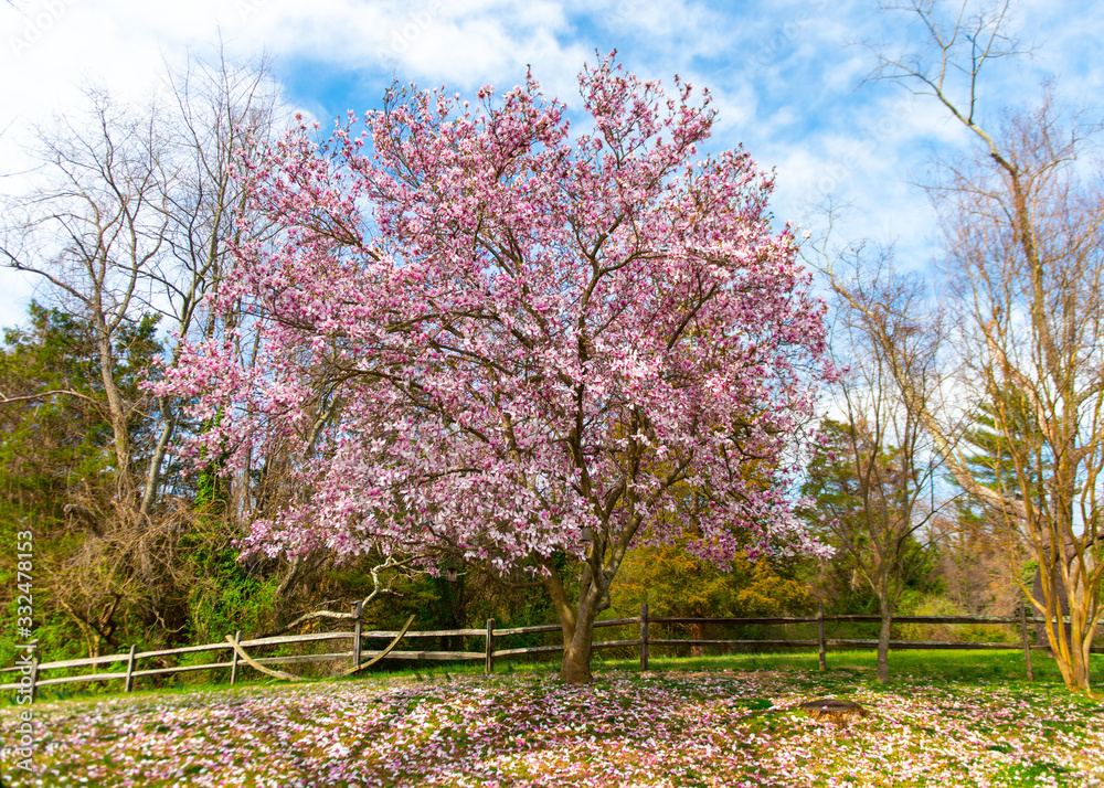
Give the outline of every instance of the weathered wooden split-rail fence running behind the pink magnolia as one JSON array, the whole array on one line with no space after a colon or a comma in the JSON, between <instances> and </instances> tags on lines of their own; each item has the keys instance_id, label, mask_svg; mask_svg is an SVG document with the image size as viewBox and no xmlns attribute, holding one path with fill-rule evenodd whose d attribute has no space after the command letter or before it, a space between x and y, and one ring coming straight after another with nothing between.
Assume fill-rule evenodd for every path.
<instances>
[{"instance_id":1,"label":"weathered wooden split-rail fence running behind the pink magnolia","mask_svg":"<svg viewBox=\"0 0 1104 788\"><path fill-rule=\"evenodd\" d=\"M488 619L487 626L482 629L449 629L449 630L433 630L433 631L376 631L367 630L362 627L362 621L360 617L360 607L353 606L353 613L350 616L353 621L353 629L351 631L335 631L335 632L311 632L307 635L285 635L278 637L267 637L267 638L247 638L242 639L242 633L238 631L233 638L226 637L226 640L221 643L208 643L204 646L188 646L185 648L179 649L161 649L156 651L138 651L136 646L130 647L128 653L110 654L105 657L88 657L85 659L74 659L64 660L60 662L42 662L39 658L39 653L35 650L32 658L29 661L24 661L23 664L19 664L11 668L0 669L0 674L11 674L15 673L19 680L14 683L0 684L0 692L18 691L21 693L30 692L33 696L34 693L43 686L54 686L59 684L72 684L72 683L86 683L86 682L106 682L106 681L121 681L123 689L126 692L131 692L135 689L135 684L138 679L149 678L149 677L162 677L172 675L176 673L185 673L201 670L210 671L230 671L230 683L234 684L237 679L242 675L242 670L244 667L250 665L256 668L257 670L268 673L270 675L276 675L286 679L296 679L298 677L284 673L278 670L273 670L268 665L290 665L290 664L302 664L311 662L329 662L329 661L340 661L349 660L350 669L344 671L344 673L352 673L361 670L365 667L364 660L376 660L376 659L389 659L389 660L407 660L414 662L421 661L478 661L484 662L484 670L490 673L495 669L495 661L499 659L512 658L512 657L524 657L524 656L542 656L542 654L562 654L562 645L556 646L530 646L526 648L499 648L498 643L505 639L522 635L538 635L548 632L560 632L561 627L559 624L541 625L533 627L511 627L505 629L498 629L495 626L495 619ZM999 617L999 616L894 616L894 624L941 624L941 625L990 625L990 624L1002 624L1002 625L1018 625L1020 630L1020 642L1009 643L1009 642L967 642L967 641L915 641L915 640L891 640L891 649L1022 649L1023 659L1026 663L1027 677L1032 679L1031 670L1031 651L1033 649L1045 649L1048 648L1045 643L1031 643L1029 642L1028 627L1029 625L1034 625L1041 622L1043 619L1037 618L1034 616L1027 616L1023 608L1020 609L1019 617ZM649 616L648 606L644 605L640 609L640 615L638 617L631 618L617 618L605 621L596 621L595 629L605 629L611 627L638 627L639 637L629 640L595 640L593 648L596 650L601 649L615 649L615 648L628 648L636 649L639 651L640 656L640 670L646 671L648 669L648 658L649 650L657 647L722 647L722 648L743 648L743 649L763 649L763 648L817 648L819 654L819 667L820 670L827 669L827 652L828 649L867 649L875 648L878 646L877 640L871 639L838 639L838 638L827 638L825 635L825 625L835 622L851 622L851 624L877 624L880 622L881 618L879 616L826 616L824 613L824 605L819 605L816 616L775 616L775 617L757 617L757 618L688 618L688 617L671 617L671 616ZM1104 621L1102 621L1104 622ZM815 624L817 629L816 639L774 639L774 640L723 640L723 639L686 639L686 638L655 638L649 635L650 625L681 625L681 626L693 626L693 627L704 627L704 626L754 626L754 625L797 625L797 624ZM410 625L407 625L408 627ZM400 641L414 641L425 638L479 638L484 641L482 651L418 651L412 649L396 649L395 646ZM386 649L379 651L365 651L363 649L363 641L365 639L385 639L391 640L391 645ZM328 641L351 641L351 650L349 651L338 651L332 653L307 653L307 654L288 654L288 656L274 656L274 657L251 657L247 650L263 649L266 647L282 647L282 646L293 646L293 645L307 645L317 642L328 642ZM1093 647L1092 651L1094 653L1104 653L1104 648ZM139 668L139 661L149 662L151 660L168 660L172 658L179 658L185 654L198 654L198 653L226 653L227 659L220 662L203 662L195 664L183 664L173 667L157 667L157 668ZM125 663L123 670L115 670L113 672L96 672L105 665L116 665ZM46 672L56 671L70 671L78 668L92 668L94 672L82 673L77 675L57 675L51 678L44 678Z\"/></svg>"}]
</instances>

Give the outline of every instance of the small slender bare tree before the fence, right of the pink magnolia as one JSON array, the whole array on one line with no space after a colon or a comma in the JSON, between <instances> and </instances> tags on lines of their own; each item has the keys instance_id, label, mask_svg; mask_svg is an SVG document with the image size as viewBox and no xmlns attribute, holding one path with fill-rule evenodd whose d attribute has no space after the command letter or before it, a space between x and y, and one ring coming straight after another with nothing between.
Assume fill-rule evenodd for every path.
<instances>
[{"instance_id":1,"label":"small slender bare tree before the fence, right of the pink magnolia","mask_svg":"<svg viewBox=\"0 0 1104 788\"><path fill-rule=\"evenodd\" d=\"M820 252L825 252L821 247ZM893 613L906 584L930 566L927 525L941 458L924 425L942 382L942 323L925 284L894 275L888 256L850 270L819 264L835 290L832 349L841 422L826 422L828 441L810 468L806 493L878 598L878 680L889 680ZM838 263L838 260L837 260Z\"/></svg>"}]
</instances>

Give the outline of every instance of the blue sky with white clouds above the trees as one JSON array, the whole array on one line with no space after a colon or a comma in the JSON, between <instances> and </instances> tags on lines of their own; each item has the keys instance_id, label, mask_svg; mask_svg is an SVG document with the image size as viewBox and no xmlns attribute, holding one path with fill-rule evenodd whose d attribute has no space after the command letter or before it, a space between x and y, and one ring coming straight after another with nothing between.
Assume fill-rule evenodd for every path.
<instances>
[{"instance_id":1,"label":"blue sky with white clouds above the trees","mask_svg":"<svg viewBox=\"0 0 1104 788\"><path fill-rule=\"evenodd\" d=\"M74 109L82 85L138 99L166 64L210 54L220 36L232 57L274 57L285 102L323 127L347 109L379 106L393 78L506 90L527 65L577 107L581 66L616 49L637 74L668 85L679 74L710 88L720 113L712 148L742 143L776 170L776 217L816 232L813 206L830 198L850 205L838 237L894 243L901 265L921 268L937 255L937 237L917 184L934 157L970 140L934 100L861 84L873 56L860 42L899 45L906 21L879 12L877 0L4 0L0 174L25 169L19 145L34 124ZM1030 0L1016 4L1013 24L1034 53L988 75L983 119L1030 105L1045 78L1098 117L1104 9ZM0 190L25 182L0 179ZM0 326L22 318L32 287L0 270Z\"/></svg>"}]
</instances>

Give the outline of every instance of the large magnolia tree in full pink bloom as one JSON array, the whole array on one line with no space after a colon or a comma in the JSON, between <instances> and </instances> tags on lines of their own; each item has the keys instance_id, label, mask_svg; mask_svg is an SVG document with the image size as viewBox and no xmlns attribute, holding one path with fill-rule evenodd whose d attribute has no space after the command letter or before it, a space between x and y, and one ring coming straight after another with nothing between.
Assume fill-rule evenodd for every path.
<instances>
[{"instance_id":1,"label":"large magnolia tree in full pink bloom","mask_svg":"<svg viewBox=\"0 0 1104 788\"><path fill-rule=\"evenodd\" d=\"M214 302L245 309L263 363L200 345L162 384L215 425L198 461L296 447L301 499L253 550L529 573L576 682L634 544L692 526L722 564L747 533L817 550L779 466L830 374L771 179L741 151L697 159L708 93L609 58L580 85L588 134L530 77L475 106L392 92L323 147L290 135L244 178L291 241L240 249Z\"/></svg>"}]
</instances>

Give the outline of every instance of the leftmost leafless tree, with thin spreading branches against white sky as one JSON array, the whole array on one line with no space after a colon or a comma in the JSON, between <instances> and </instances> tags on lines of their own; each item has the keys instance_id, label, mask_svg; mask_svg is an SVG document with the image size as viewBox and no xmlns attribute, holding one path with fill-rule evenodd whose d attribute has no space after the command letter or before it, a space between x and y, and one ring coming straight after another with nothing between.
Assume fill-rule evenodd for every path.
<instances>
[{"instance_id":1,"label":"leftmost leafless tree, with thin spreading branches against white sky","mask_svg":"<svg viewBox=\"0 0 1104 788\"><path fill-rule=\"evenodd\" d=\"M145 270L161 253L171 175L153 113L134 117L89 92L83 127L60 119L40 137L50 185L9 209L2 254L65 294L70 311L94 331L106 412L114 434L116 494L134 492L134 409L116 380L116 338L141 317Z\"/></svg>"}]
</instances>

